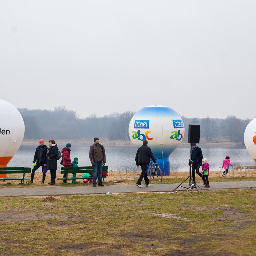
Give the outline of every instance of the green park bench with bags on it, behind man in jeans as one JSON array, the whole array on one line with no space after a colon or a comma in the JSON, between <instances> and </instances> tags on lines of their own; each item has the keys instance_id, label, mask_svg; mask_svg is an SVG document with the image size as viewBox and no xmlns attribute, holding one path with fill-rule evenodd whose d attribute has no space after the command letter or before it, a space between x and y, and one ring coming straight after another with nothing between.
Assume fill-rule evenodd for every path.
<instances>
[{"instance_id":1,"label":"green park bench with bags on it, behind man in jeans","mask_svg":"<svg viewBox=\"0 0 256 256\"><path fill-rule=\"evenodd\" d=\"M88 172L88 173L93 173L93 166L81 166L81 167L61 167L61 170L60 170L60 173L61 174L65 174L67 173L67 177L66 178L58 178L58 180L66 180L66 182L68 182L68 180L89 180L91 181L93 179L93 176L90 176L90 177L76 177L76 178L73 178L73 177L68 177L68 174L73 174L73 173L85 173L85 172ZM99 178L99 170L97 171L97 179ZM102 166L102 172L108 172L108 166ZM108 174L107 174L107 177L108 177ZM106 177L102 177L102 179L104 181L106 181ZM93 181L94 182L94 181Z\"/></svg>"}]
</instances>

